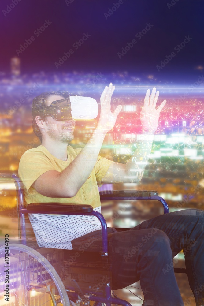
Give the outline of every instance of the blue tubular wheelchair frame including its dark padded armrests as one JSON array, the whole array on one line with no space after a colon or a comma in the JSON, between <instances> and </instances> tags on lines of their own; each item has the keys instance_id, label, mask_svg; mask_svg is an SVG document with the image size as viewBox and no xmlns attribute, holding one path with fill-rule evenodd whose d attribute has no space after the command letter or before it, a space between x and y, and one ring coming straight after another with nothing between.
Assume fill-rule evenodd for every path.
<instances>
[{"instance_id":1,"label":"blue tubular wheelchair frame including its dark padded armrests","mask_svg":"<svg viewBox=\"0 0 204 306\"><path fill-rule=\"evenodd\" d=\"M26 241L26 225L25 215L29 213L57 214L57 215L91 215L99 219L102 226L102 252L101 256L108 256L108 240L107 240L107 224L105 218L93 211L91 205L77 205L70 203L30 203L25 207L22 181L16 174L0 174L1 178L13 178L17 191L17 214L18 214L18 237L19 243L27 246ZM131 191L102 191L100 193L101 200L158 200L164 208L164 213L169 212L166 201L158 195L154 190L131 190ZM121 229L120 229L121 230ZM123 229L128 230L128 229ZM175 272L185 273L185 269L175 268ZM95 295L96 294L96 295ZM111 296L110 284L106 284L105 297L91 294L89 300L94 301L94 306L105 303L107 306L111 304L119 304L122 306L131 306L125 300ZM86 303L85 303L86 304Z\"/></svg>"}]
</instances>

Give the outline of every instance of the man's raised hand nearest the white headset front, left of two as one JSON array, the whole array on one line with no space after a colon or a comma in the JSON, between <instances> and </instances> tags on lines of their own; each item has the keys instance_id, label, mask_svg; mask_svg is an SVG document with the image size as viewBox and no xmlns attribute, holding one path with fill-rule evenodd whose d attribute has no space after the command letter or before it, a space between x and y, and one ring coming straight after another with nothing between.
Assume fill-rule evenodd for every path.
<instances>
[{"instance_id":1,"label":"man's raised hand nearest the white headset front, left of two","mask_svg":"<svg viewBox=\"0 0 204 306\"><path fill-rule=\"evenodd\" d=\"M102 130L103 132L108 132L113 129L115 125L117 115L120 113L122 109L122 105L118 105L115 111L112 113L110 110L110 102L111 97L113 95L113 91L115 86L110 83L109 86L106 86L104 91L101 94L100 102L101 102L101 113L98 121L97 129Z\"/></svg>"}]
</instances>

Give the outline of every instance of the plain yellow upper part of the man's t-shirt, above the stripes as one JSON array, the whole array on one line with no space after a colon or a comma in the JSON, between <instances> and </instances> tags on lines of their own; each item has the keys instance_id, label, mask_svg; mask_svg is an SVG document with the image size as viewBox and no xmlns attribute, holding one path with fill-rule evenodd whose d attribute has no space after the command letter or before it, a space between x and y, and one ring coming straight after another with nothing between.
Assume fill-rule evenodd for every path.
<instances>
[{"instance_id":1,"label":"plain yellow upper part of the man's t-shirt, above the stripes","mask_svg":"<svg viewBox=\"0 0 204 306\"><path fill-rule=\"evenodd\" d=\"M102 185L101 180L112 163L112 161L101 156L98 156L98 160L94 169L91 171L90 177L79 189L76 196L72 198L51 198L43 196L31 187L37 178L46 171L56 170L62 172L75 159L80 150L68 146L67 161L56 158L42 145L26 151L22 155L19 163L19 176L25 186L24 194L26 203L62 202L89 204L93 208L99 207L101 203L97 186Z\"/></svg>"}]
</instances>

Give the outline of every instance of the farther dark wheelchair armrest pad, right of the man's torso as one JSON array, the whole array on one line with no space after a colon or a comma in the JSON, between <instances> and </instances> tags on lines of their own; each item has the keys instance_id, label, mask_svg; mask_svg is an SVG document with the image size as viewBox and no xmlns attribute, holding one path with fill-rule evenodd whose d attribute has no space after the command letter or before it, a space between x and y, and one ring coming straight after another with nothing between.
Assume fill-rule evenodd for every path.
<instances>
[{"instance_id":1,"label":"farther dark wheelchair armrest pad, right of the man's torso","mask_svg":"<svg viewBox=\"0 0 204 306\"><path fill-rule=\"evenodd\" d=\"M154 200L156 190L105 190L100 191L101 200Z\"/></svg>"}]
</instances>

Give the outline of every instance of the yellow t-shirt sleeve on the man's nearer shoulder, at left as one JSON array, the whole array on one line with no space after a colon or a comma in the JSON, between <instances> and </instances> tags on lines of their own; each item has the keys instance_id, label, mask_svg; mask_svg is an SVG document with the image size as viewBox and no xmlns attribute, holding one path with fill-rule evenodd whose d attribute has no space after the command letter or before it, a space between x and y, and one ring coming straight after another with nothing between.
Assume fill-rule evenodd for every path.
<instances>
[{"instance_id":1,"label":"yellow t-shirt sleeve on the man's nearer shoulder, at left","mask_svg":"<svg viewBox=\"0 0 204 306\"><path fill-rule=\"evenodd\" d=\"M40 152L25 152L19 163L19 177L28 193L36 194L31 185L45 172L55 170L49 158Z\"/></svg>"}]
</instances>

